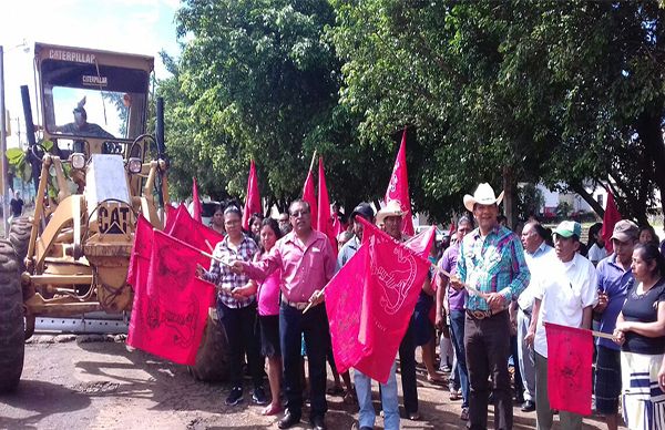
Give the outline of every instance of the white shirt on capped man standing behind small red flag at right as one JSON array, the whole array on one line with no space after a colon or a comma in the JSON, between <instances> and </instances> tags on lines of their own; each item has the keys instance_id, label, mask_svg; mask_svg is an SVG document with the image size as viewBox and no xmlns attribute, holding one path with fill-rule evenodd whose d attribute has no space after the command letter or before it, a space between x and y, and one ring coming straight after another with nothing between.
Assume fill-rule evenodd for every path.
<instances>
[{"instance_id":1,"label":"white shirt on capped man standing behind small red flag at right","mask_svg":"<svg viewBox=\"0 0 665 430\"><path fill-rule=\"evenodd\" d=\"M548 262L548 276L540 278L534 297L541 300L533 348L548 357L548 338L543 322L581 327L583 310L598 301L597 274L593 264L575 253L572 260L562 263L554 257Z\"/></svg>"}]
</instances>

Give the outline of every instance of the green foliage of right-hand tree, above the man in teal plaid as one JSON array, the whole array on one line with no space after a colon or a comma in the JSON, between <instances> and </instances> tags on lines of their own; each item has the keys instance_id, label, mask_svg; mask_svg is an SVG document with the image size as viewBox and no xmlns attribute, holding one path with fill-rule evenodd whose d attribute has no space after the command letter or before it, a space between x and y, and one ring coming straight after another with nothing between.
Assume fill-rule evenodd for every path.
<instances>
[{"instance_id":1,"label":"green foliage of right-hand tree, above the man in teal plaid","mask_svg":"<svg viewBox=\"0 0 665 430\"><path fill-rule=\"evenodd\" d=\"M480 181L499 185L502 166L574 190L612 178L622 213L638 218L654 185L665 190L656 3L334 4L342 102L365 113L366 142L416 125L424 208Z\"/></svg>"}]
</instances>

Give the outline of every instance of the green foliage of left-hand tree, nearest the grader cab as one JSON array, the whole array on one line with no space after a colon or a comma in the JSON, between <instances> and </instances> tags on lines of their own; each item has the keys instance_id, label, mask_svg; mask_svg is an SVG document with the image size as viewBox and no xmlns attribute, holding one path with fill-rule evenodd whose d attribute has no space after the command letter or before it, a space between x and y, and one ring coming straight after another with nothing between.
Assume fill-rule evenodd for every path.
<instances>
[{"instance_id":1,"label":"green foliage of left-hand tree, nearest the grader cab","mask_svg":"<svg viewBox=\"0 0 665 430\"><path fill-rule=\"evenodd\" d=\"M185 1L178 32L188 42L160 92L176 193L195 175L217 198L243 196L249 160L262 195L299 196L311 154L325 157L332 198L355 204L370 190L369 152L338 104L340 63L325 35L326 1Z\"/></svg>"}]
</instances>

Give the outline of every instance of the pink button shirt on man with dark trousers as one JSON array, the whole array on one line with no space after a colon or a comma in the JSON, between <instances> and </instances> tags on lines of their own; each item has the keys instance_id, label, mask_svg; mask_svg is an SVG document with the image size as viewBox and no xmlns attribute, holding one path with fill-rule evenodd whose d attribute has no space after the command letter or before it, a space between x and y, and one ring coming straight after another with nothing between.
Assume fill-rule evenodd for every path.
<instances>
[{"instance_id":1,"label":"pink button shirt on man with dark trousers","mask_svg":"<svg viewBox=\"0 0 665 430\"><path fill-rule=\"evenodd\" d=\"M308 301L315 290L323 289L332 278L336 264L330 240L317 231L311 231L306 244L291 232L260 262L243 262L247 275L257 280L282 269L282 295L297 303Z\"/></svg>"}]
</instances>

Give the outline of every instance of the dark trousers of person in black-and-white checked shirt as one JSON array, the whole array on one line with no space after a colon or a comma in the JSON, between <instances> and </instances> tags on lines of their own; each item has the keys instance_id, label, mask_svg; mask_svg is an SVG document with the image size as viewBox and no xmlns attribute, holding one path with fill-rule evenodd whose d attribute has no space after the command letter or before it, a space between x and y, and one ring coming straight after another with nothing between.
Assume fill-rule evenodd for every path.
<instances>
[{"instance_id":1,"label":"dark trousers of person in black-and-white checked shirt","mask_svg":"<svg viewBox=\"0 0 665 430\"><path fill-rule=\"evenodd\" d=\"M217 314L221 316L228 338L232 386L243 387L243 358L246 354L254 388L260 387L263 385L264 360L259 352L256 304L244 308L229 308L218 301Z\"/></svg>"}]
</instances>

